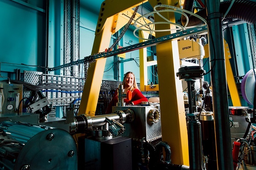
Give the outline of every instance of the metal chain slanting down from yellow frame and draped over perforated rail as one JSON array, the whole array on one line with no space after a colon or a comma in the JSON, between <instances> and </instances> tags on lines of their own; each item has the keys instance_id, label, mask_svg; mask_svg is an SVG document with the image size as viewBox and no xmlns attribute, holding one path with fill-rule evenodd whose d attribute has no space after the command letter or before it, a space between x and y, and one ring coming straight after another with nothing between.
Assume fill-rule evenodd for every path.
<instances>
[{"instance_id":1,"label":"metal chain slanting down from yellow frame and draped over perforated rail","mask_svg":"<svg viewBox=\"0 0 256 170\"><path fill-rule=\"evenodd\" d=\"M128 23L125 25L125 27L124 27L124 29L122 30L122 32L120 33L120 35L116 38L116 42L113 43L113 44L111 45L111 47L109 47L109 48L106 50L106 52L110 52L110 51L113 49L113 47L121 40L122 36L125 34L125 32L127 31L127 29L129 28L129 26L131 25L132 20L135 18L138 9L139 9L139 6L136 6L136 8L135 8L135 10L134 10L134 13L132 14L130 20L129 20ZM85 57L85 58L84 58L84 83L86 82L86 79L87 79L87 76L88 76L87 71L88 71L88 67L90 67L90 63L93 63L93 62L96 61L95 59L93 59L93 57L94 57L95 55L99 55L99 54L101 54L101 53L102 53L102 52L98 52L98 53L96 53L96 54L94 54L94 55L89 55L88 57Z\"/></svg>"}]
</instances>

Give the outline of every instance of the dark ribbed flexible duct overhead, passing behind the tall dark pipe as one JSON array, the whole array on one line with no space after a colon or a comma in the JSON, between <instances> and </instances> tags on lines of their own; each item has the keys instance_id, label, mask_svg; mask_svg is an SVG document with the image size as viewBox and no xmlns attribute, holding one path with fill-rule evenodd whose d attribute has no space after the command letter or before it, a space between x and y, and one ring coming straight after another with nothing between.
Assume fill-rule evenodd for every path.
<instances>
[{"instance_id":1,"label":"dark ribbed flexible duct overhead, passing behind the tall dark pipe","mask_svg":"<svg viewBox=\"0 0 256 170\"><path fill-rule=\"evenodd\" d=\"M188 2L186 2L188 1ZM232 0L228 1L223 1L220 3L220 12L221 13L226 13L227 9L229 8ZM183 9L190 10L192 12L191 7L189 5L193 6L194 0L185 0ZM242 20L246 23L256 23L256 13L253 12L256 8L256 2L251 1L251 0L235 0L233 3L232 7L230 8L230 11L227 13L225 18L232 18L232 19L237 19L237 20ZM197 12L199 16L203 17L206 19L207 13L206 9L202 9L201 11ZM182 15L181 17L181 22L182 25L184 26L186 24L186 17ZM189 23L187 26L196 26L202 23L202 20L199 19L198 17L195 16L190 16L189 17Z\"/></svg>"}]
</instances>

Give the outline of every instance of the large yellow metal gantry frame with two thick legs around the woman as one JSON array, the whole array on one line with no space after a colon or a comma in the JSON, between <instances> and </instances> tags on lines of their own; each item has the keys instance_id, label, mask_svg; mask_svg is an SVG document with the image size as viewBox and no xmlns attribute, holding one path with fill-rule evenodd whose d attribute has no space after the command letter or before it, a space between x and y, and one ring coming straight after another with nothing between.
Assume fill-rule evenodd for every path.
<instances>
[{"instance_id":1,"label":"large yellow metal gantry frame with two thick legs around the woman","mask_svg":"<svg viewBox=\"0 0 256 170\"><path fill-rule=\"evenodd\" d=\"M117 32L118 29L122 28L122 26L127 23L127 20L126 22L123 21L126 17L121 17L121 14L128 11L127 15L130 16L132 13L131 8L144 2L146 2L146 0L105 0L102 3L99 13L92 54L103 52L107 49L111 40L111 34ZM159 3L163 5L179 6L179 3L176 0L149 0L148 2L151 6L155 6ZM169 18L172 22L175 21L174 14L162 15ZM154 20L158 22L163 19L155 15ZM167 24L157 24L155 29L170 29L174 27L175 26ZM161 37L171 33L174 32L157 32L155 37ZM179 78L176 77L176 72L178 72L180 66L177 40L161 43L156 46L156 49L160 84L157 88L159 88L160 94L163 141L166 141L171 147L172 163L189 166L188 138L182 83ZM142 53L143 58L145 58L145 50L141 49L140 52ZM87 81L84 84L79 115L95 115L105 63L106 59L100 58L89 67ZM145 63L140 66L143 66L144 68ZM145 74L145 69L143 69L143 72ZM144 84L147 82L146 80L141 81L144 81ZM146 86L145 90L147 90ZM154 89L154 91L155 90L156 89Z\"/></svg>"}]
</instances>

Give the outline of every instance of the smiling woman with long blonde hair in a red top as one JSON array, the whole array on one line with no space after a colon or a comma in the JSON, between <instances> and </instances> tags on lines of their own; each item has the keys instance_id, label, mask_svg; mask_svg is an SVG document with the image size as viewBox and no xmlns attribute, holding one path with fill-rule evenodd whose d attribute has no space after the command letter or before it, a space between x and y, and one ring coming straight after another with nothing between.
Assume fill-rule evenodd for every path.
<instances>
[{"instance_id":1,"label":"smiling woman with long blonde hair in a red top","mask_svg":"<svg viewBox=\"0 0 256 170\"><path fill-rule=\"evenodd\" d=\"M148 99L140 92L140 89L137 86L135 75L133 72L125 73L122 84L125 89L125 92L127 92L128 90L132 92L132 97L130 101L126 98L124 99L124 102L126 103L126 105L129 105L129 104L136 105L136 104L141 104L142 101L148 101ZM117 90L116 90L113 95L113 98L110 101L110 104L108 105L106 114L110 114L112 112L112 106L116 106L117 102L118 102L118 97L117 97Z\"/></svg>"}]
</instances>

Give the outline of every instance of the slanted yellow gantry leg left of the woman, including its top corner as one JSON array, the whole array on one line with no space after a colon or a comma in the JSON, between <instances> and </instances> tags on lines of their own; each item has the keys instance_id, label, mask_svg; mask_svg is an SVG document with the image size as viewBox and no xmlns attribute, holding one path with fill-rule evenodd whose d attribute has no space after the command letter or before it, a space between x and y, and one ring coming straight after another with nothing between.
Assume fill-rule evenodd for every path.
<instances>
[{"instance_id":1,"label":"slanted yellow gantry leg left of the woman, including its top corner","mask_svg":"<svg viewBox=\"0 0 256 170\"><path fill-rule=\"evenodd\" d=\"M128 23L128 17L125 21L122 21L122 18L119 17L120 15L128 11L128 16L130 16L132 8L145 2L147 0L105 0L99 12L91 54L94 55L98 52L104 52L109 47L111 35ZM78 115L95 115L105 63L106 58L100 58L96 62L91 63L91 66L88 68L88 77L84 84Z\"/></svg>"}]
</instances>

